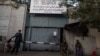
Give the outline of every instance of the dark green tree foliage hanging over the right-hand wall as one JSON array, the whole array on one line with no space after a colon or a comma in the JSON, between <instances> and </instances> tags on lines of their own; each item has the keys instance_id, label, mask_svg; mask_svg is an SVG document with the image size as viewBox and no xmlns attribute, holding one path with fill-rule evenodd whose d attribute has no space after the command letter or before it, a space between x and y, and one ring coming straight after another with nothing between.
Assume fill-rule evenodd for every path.
<instances>
[{"instance_id":1,"label":"dark green tree foliage hanging over the right-hand wall","mask_svg":"<svg viewBox=\"0 0 100 56\"><path fill-rule=\"evenodd\" d=\"M68 1L68 0L66 0ZM80 18L82 24L100 28L100 0L70 0L72 4L66 3L68 10L66 16L72 19ZM73 6L78 3L77 6ZM71 10L72 9L72 10Z\"/></svg>"}]
</instances>

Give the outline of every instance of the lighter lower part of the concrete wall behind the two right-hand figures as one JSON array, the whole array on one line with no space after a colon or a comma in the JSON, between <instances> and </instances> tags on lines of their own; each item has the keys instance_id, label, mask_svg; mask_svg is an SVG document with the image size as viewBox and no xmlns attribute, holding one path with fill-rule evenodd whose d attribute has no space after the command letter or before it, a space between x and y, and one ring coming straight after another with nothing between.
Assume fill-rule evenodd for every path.
<instances>
[{"instance_id":1,"label":"lighter lower part of the concrete wall behind the two right-hand figures","mask_svg":"<svg viewBox=\"0 0 100 56\"><path fill-rule=\"evenodd\" d=\"M79 40L83 46L84 54L91 55L92 51L96 49L96 38L95 37L82 37L76 36L71 32L64 31L64 36L66 37L66 41L68 42L68 48L70 51L75 53L75 43L76 40Z\"/></svg>"}]
</instances>

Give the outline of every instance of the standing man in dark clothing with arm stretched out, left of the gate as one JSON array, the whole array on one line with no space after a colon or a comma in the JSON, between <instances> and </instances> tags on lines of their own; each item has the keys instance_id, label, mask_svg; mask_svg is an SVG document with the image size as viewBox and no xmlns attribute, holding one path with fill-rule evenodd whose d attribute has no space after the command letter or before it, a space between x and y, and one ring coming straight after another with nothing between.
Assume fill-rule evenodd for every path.
<instances>
[{"instance_id":1,"label":"standing man in dark clothing with arm stretched out, left of the gate","mask_svg":"<svg viewBox=\"0 0 100 56\"><path fill-rule=\"evenodd\" d=\"M11 53L13 54L15 52L15 54L17 54L18 49L20 48L20 43L22 42L21 30L18 30L18 33L16 33L12 38L14 37L15 37L15 42Z\"/></svg>"}]
</instances>

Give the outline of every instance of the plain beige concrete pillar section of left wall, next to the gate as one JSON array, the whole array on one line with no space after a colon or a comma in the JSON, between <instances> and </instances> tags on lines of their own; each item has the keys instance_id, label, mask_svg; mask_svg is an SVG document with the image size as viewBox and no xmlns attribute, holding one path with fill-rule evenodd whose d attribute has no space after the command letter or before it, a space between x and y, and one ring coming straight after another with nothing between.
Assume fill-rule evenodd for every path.
<instances>
[{"instance_id":1,"label":"plain beige concrete pillar section of left wall, next to the gate","mask_svg":"<svg viewBox=\"0 0 100 56\"><path fill-rule=\"evenodd\" d=\"M22 5L18 9L12 7L11 18L9 19L9 28L7 37L12 37L19 29L24 30L26 16L26 6ZM24 33L24 32L23 32Z\"/></svg>"}]
</instances>

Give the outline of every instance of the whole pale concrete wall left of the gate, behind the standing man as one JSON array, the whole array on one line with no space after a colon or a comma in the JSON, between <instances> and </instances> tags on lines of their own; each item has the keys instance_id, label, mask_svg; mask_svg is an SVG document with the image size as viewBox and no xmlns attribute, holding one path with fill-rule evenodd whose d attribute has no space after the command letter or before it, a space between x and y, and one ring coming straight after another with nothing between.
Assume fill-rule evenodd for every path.
<instances>
[{"instance_id":1,"label":"whole pale concrete wall left of the gate, behind the standing man","mask_svg":"<svg viewBox=\"0 0 100 56\"><path fill-rule=\"evenodd\" d=\"M26 5L18 9L10 5L0 5L0 35L11 38L19 29L24 34ZM0 42L1 43L1 42ZM3 45L3 43L1 43ZM0 45L3 49L3 46Z\"/></svg>"}]
</instances>

